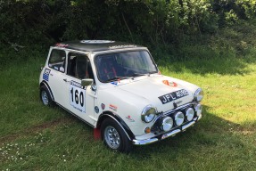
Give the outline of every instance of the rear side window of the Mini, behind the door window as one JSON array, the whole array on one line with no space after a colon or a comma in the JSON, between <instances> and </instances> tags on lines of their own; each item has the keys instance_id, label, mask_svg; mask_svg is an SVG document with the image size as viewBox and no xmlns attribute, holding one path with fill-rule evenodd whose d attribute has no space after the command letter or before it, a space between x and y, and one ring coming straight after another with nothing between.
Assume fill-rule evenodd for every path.
<instances>
[{"instance_id":1,"label":"rear side window of the Mini, behind the door window","mask_svg":"<svg viewBox=\"0 0 256 171\"><path fill-rule=\"evenodd\" d=\"M66 53L63 50L53 49L48 65L50 68L65 72Z\"/></svg>"}]
</instances>

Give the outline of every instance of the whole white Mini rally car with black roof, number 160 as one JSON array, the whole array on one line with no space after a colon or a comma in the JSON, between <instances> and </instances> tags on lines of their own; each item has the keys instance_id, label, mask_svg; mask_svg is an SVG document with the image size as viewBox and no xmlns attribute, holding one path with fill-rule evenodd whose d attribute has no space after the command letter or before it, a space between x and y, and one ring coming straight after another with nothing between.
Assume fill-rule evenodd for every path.
<instances>
[{"instance_id":1,"label":"whole white Mini rally car with black roof, number 160","mask_svg":"<svg viewBox=\"0 0 256 171\"><path fill-rule=\"evenodd\" d=\"M140 45L82 40L51 46L39 87L44 105L68 110L116 151L161 141L202 118L202 89L161 75Z\"/></svg>"}]
</instances>

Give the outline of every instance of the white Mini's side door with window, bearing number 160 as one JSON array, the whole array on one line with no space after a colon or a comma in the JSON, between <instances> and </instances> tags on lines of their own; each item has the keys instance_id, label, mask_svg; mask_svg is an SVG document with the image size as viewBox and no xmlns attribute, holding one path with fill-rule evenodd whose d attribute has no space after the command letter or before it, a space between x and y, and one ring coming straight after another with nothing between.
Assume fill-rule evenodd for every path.
<instances>
[{"instance_id":1,"label":"white Mini's side door with window, bearing number 160","mask_svg":"<svg viewBox=\"0 0 256 171\"><path fill-rule=\"evenodd\" d=\"M91 86L82 86L82 79L94 78L90 67L90 61L86 54L69 53L67 75L62 87L66 97L62 99L65 108L71 113L87 121L88 124L95 124L95 91Z\"/></svg>"}]
</instances>

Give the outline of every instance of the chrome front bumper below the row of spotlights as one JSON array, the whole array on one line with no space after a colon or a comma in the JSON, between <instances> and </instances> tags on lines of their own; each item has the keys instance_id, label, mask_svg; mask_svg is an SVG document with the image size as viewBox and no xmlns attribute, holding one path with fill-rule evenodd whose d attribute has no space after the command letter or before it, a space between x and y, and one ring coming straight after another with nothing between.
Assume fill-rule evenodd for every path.
<instances>
[{"instance_id":1,"label":"chrome front bumper below the row of spotlights","mask_svg":"<svg viewBox=\"0 0 256 171\"><path fill-rule=\"evenodd\" d=\"M152 138L149 139L145 139L145 140L132 140L133 144L135 145L146 145L146 144L150 144L153 142L159 142L163 139L168 138L169 136L174 136L175 134L178 134L180 132L183 132L186 130L186 128L190 127L190 126L194 126L195 122L199 119L202 118L202 115L200 115L199 117L194 118L192 121L184 124L183 126L179 126L178 128L175 128L167 133L162 133L162 134L158 134Z\"/></svg>"}]
</instances>

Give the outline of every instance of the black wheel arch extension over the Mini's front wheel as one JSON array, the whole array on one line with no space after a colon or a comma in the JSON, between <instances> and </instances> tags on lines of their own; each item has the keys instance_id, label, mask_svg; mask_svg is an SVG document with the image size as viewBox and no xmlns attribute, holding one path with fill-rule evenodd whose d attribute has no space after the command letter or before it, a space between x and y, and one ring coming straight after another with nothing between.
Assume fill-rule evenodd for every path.
<instances>
[{"instance_id":1,"label":"black wheel arch extension over the Mini's front wheel","mask_svg":"<svg viewBox=\"0 0 256 171\"><path fill-rule=\"evenodd\" d=\"M123 129L124 133L127 134L129 140L133 140L135 138L135 135L129 129L125 121L120 118L120 116L113 114L111 111L103 111L103 113L98 118L96 127L99 128L102 125L103 120L106 118L112 118L115 122L117 122L117 124L119 124Z\"/></svg>"}]
</instances>

